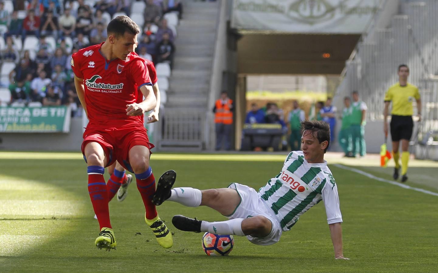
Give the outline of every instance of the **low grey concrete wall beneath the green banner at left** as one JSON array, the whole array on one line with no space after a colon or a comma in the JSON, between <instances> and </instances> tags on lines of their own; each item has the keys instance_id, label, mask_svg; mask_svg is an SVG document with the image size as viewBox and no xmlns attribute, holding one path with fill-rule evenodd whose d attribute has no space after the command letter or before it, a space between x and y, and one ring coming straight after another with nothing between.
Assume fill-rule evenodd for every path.
<instances>
[{"instance_id":1,"label":"low grey concrete wall beneath the green banner at left","mask_svg":"<svg viewBox=\"0 0 438 273\"><path fill-rule=\"evenodd\" d=\"M72 151L80 152L82 118L71 119L70 133L0 133L0 151Z\"/></svg>"}]
</instances>

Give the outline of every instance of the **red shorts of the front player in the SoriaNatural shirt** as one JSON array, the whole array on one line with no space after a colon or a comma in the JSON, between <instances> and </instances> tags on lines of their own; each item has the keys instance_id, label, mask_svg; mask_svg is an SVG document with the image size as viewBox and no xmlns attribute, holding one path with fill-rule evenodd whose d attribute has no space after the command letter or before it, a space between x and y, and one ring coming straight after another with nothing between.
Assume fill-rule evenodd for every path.
<instances>
[{"instance_id":1,"label":"red shorts of the front player in the SoriaNatural shirt","mask_svg":"<svg viewBox=\"0 0 438 273\"><path fill-rule=\"evenodd\" d=\"M140 123L126 124L117 128L88 127L83 135L81 150L85 159L85 146L90 142L97 142L102 146L108 163L105 167L113 165L116 160L128 171L134 173L129 163L129 150L141 145L149 149L155 146L149 142L146 128ZM151 152L152 153L152 152Z\"/></svg>"}]
</instances>

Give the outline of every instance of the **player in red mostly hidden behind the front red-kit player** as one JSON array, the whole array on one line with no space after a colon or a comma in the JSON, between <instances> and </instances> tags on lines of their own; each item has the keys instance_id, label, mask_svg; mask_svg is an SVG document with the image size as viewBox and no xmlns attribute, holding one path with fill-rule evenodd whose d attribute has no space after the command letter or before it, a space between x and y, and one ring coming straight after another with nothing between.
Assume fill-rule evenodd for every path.
<instances>
[{"instance_id":1,"label":"player in red mostly hidden behind the front red-kit player","mask_svg":"<svg viewBox=\"0 0 438 273\"><path fill-rule=\"evenodd\" d=\"M152 82L152 89L154 90L155 98L157 100L157 104L153 109L152 113L148 115L147 123L153 123L158 121L158 114L160 108L160 90L158 86L158 77L157 71L155 69L154 63L150 60L145 59L146 67L148 68L149 77ZM143 94L138 92L137 103L141 103L143 101ZM141 116L143 118L143 116ZM120 165L120 163L115 162L113 165L107 168L108 173L110 174L109 180L106 182L106 189L108 192L108 201L111 201L113 197L117 193L117 200L123 201L127 196L127 189L129 184L131 183L132 177L130 174L125 173L124 167Z\"/></svg>"}]
</instances>

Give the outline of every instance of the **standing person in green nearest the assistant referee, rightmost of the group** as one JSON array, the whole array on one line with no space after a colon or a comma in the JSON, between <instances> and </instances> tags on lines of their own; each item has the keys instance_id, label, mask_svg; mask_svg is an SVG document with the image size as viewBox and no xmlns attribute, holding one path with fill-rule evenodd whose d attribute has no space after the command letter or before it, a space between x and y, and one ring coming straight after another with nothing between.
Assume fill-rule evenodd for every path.
<instances>
[{"instance_id":1,"label":"standing person in green nearest the assistant referee, rightmost of the group","mask_svg":"<svg viewBox=\"0 0 438 273\"><path fill-rule=\"evenodd\" d=\"M353 91L353 104L351 104L351 138L353 156L358 153L365 156L367 148L365 145L365 112L368 110L367 105L359 100L359 93Z\"/></svg>"}]
</instances>

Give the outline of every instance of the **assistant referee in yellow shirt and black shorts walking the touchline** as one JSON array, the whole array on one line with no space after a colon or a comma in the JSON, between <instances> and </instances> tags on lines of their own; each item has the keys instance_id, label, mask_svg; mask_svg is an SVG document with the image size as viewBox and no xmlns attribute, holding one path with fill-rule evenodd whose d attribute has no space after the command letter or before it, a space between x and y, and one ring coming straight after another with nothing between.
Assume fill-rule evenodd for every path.
<instances>
[{"instance_id":1,"label":"assistant referee in yellow shirt and black shorts walking the touchline","mask_svg":"<svg viewBox=\"0 0 438 273\"><path fill-rule=\"evenodd\" d=\"M408 177L406 172L408 170L409 162L409 140L412 136L413 130L413 100L417 100L418 118L421 120L421 100L420 93L417 86L414 86L407 82L409 76L409 67L406 65L399 65L399 82L389 87L385 94L385 110L383 111L384 125L383 131L385 135L388 135L388 117L389 104L392 102L391 111L391 138L392 138L392 155L396 162L396 168L394 169L394 179L399 178L399 144L402 142L402 182L406 182Z\"/></svg>"}]
</instances>

